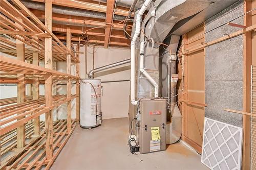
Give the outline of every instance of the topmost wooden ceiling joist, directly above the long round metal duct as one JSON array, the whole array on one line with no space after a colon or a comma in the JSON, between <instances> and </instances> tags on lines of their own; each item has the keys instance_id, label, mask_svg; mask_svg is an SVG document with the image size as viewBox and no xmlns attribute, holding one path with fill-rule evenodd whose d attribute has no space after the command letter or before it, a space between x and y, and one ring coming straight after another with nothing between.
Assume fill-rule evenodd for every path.
<instances>
[{"instance_id":1,"label":"topmost wooden ceiling joist, directly above the long round metal duct","mask_svg":"<svg viewBox=\"0 0 256 170\"><path fill-rule=\"evenodd\" d=\"M31 0L35 2L45 3L45 0ZM93 1L67 1L67 0L58 0L53 1L53 5L63 6L63 7L71 7L71 8L78 8L90 11L98 11L98 12L107 12L107 7L105 3L97 3ZM129 13L129 8L125 7L116 7L116 15L123 15L126 16Z\"/></svg>"}]
</instances>

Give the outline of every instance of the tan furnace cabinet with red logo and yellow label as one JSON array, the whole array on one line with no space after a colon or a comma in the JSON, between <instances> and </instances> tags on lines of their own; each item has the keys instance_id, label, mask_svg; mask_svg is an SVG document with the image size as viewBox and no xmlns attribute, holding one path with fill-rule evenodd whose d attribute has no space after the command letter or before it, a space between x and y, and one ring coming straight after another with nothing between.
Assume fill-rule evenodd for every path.
<instances>
[{"instance_id":1,"label":"tan furnace cabinet with red logo and yellow label","mask_svg":"<svg viewBox=\"0 0 256 170\"><path fill-rule=\"evenodd\" d=\"M141 99L139 145L140 153L166 149L166 100Z\"/></svg>"}]
</instances>

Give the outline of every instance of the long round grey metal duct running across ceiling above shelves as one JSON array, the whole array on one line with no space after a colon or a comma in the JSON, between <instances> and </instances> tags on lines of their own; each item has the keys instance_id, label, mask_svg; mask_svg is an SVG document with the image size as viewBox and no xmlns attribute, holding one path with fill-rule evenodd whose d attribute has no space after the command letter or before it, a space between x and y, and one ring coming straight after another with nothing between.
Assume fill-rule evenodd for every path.
<instances>
[{"instance_id":1,"label":"long round grey metal duct running across ceiling above shelves","mask_svg":"<svg viewBox=\"0 0 256 170\"><path fill-rule=\"evenodd\" d=\"M33 1L22 1L22 3L27 8L37 9L37 10L41 10L41 11L45 10L45 3L38 3L38 2L33 2ZM57 6L57 5L53 5L52 12L57 13L57 14L63 14L63 15L74 15L74 16L83 16L83 17L100 18L100 19L106 18L106 14L103 12L62 7L62 6ZM114 20L122 21L124 19L125 19L125 16L114 15Z\"/></svg>"}]
</instances>

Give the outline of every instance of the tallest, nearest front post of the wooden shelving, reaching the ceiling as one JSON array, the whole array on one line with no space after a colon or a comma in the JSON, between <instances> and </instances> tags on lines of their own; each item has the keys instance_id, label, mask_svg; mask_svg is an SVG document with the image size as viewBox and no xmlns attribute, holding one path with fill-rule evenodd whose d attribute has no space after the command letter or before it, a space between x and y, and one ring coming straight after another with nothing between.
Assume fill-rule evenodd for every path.
<instances>
[{"instance_id":1,"label":"tallest, nearest front post of the wooden shelving, reaching the ceiling","mask_svg":"<svg viewBox=\"0 0 256 170\"><path fill-rule=\"evenodd\" d=\"M45 2L45 25L52 31L52 1ZM45 67L52 69L52 38L45 38ZM46 107L52 106L52 75L45 76ZM52 159L53 125L52 110L46 112L46 159Z\"/></svg>"}]
</instances>

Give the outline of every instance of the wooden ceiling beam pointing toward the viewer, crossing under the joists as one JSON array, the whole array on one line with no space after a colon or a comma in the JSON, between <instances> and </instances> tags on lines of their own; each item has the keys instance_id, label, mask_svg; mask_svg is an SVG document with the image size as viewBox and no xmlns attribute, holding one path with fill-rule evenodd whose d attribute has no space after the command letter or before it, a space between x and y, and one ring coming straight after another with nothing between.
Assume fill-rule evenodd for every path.
<instances>
[{"instance_id":1,"label":"wooden ceiling beam pointing toward the viewer, crossing under the joists","mask_svg":"<svg viewBox=\"0 0 256 170\"><path fill-rule=\"evenodd\" d=\"M106 22L107 23L112 23L114 6L115 6L115 0L106 1ZM108 48L110 34L111 34L111 26L106 26L105 27L104 48Z\"/></svg>"}]
</instances>

